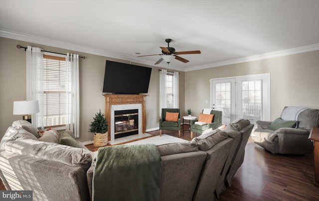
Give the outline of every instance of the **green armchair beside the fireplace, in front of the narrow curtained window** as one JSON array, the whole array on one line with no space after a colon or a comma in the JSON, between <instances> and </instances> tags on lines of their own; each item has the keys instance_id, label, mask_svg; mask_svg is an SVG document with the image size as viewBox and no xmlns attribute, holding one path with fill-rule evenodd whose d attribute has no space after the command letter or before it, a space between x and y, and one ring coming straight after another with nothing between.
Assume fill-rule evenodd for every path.
<instances>
[{"instance_id":1,"label":"green armchair beside the fireplace, in front of the narrow curtained window","mask_svg":"<svg viewBox=\"0 0 319 201\"><path fill-rule=\"evenodd\" d=\"M177 122L165 121L166 112L178 112ZM178 137L180 137L180 112L178 108L162 108L161 109L161 118L160 118L160 135L162 131L178 131Z\"/></svg>"}]
</instances>

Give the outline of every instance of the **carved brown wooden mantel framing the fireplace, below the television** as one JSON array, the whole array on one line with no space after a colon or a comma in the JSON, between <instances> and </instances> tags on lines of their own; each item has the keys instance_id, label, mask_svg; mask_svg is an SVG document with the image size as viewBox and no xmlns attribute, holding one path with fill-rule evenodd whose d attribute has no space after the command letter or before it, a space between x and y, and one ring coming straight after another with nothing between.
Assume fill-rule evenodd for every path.
<instances>
[{"instance_id":1,"label":"carved brown wooden mantel framing the fireplace, below the television","mask_svg":"<svg viewBox=\"0 0 319 201\"><path fill-rule=\"evenodd\" d=\"M111 105L142 104L142 132L146 133L145 99L147 95L104 94L103 96L105 96L105 118L108 122L110 122L111 119ZM111 140L110 125L108 132L108 140Z\"/></svg>"}]
</instances>

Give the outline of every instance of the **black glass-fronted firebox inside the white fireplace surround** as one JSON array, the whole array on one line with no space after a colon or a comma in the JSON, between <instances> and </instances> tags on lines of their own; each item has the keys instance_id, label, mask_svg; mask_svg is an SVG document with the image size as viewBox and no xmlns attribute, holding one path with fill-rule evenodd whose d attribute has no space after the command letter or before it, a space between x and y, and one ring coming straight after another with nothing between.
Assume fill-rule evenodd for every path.
<instances>
[{"instance_id":1,"label":"black glass-fronted firebox inside the white fireplace surround","mask_svg":"<svg viewBox=\"0 0 319 201\"><path fill-rule=\"evenodd\" d=\"M114 138L139 134L139 110L114 111Z\"/></svg>"}]
</instances>

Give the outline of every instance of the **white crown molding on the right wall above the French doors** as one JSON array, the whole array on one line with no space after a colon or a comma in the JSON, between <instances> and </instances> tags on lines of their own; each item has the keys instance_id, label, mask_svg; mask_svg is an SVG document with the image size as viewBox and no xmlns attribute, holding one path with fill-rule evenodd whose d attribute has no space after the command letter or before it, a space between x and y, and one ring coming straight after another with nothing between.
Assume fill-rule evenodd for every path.
<instances>
[{"instance_id":1,"label":"white crown molding on the right wall above the French doors","mask_svg":"<svg viewBox=\"0 0 319 201\"><path fill-rule=\"evenodd\" d=\"M206 65L201 65L201 66L186 67L185 72L192 71L192 70L211 68L211 67L221 67L221 66L232 65L232 64L240 64L240 63L245 63L245 62L252 62L252 61L270 59L270 58L275 58L275 57L282 57L282 56L294 55L294 54L299 54L299 53L312 52L312 51L317 51L317 50L319 50L319 43L316 43L313 45L297 47L297 48L292 48L292 49L287 49L287 50L280 50L280 51L276 51L276 52L260 54L260 55L254 55L254 56L250 56L250 57L243 57L243 58L234 59L234 60L216 62L216 63L206 64Z\"/></svg>"}]
</instances>

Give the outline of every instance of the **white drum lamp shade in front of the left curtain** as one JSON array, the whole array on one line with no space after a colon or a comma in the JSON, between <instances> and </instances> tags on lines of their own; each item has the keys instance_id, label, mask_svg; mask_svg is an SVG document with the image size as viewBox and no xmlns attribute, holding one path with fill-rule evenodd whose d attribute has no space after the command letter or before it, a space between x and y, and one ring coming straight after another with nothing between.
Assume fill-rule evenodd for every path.
<instances>
[{"instance_id":1,"label":"white drum lamp shade in front of the left curtain","mask_svg":"<svg viewBox=\"0 0 319 201\"><path fill-rule=\"evenodd\" d=\"M39 101L14 101L13 115L27 115L40 112Z\"/></svg>"}]
</instances>

